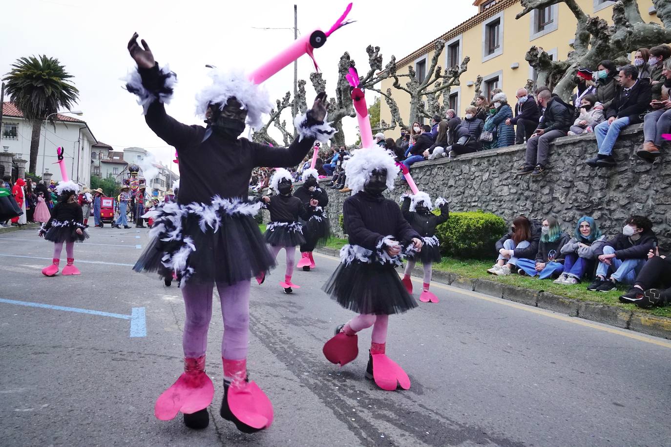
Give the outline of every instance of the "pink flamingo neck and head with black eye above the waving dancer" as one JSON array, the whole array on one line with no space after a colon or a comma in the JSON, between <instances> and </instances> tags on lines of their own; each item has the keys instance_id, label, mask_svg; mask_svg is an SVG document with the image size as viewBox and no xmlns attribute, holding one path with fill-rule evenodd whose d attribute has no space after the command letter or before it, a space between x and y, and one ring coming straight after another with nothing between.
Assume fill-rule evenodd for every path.
<instances>
[{"instance_id":1,"label":"pink flamingo neck and head with black eye above the waving dancer","mask_svg":"<svg viewBox=\"0 0 671 447\"><path fill-rule=\"evenodd\" d=\"M326 43L326 39L331 36L331 34L333 34L333 31L350 23L346 22L345 19L348 13L350 13L351 9L352 3L348 5L343 15L340 16L340 19L338 19L338 21L336 21L331 29L329 29L327 32L321 31L321 29L315 29L306 36L296 40L289 46L289 48L280 52L280 54L254 70L254 72L249 75L250 80L254 82L254 84L260 84L261 82L264 82L270 78L276 72L282 70L282 68L285 68L287 65L291 64L291 62L294 62L303 56L303 54L310 56L312 61L315 63L315 69L319 70L319 66L317 66L317 62L315 61L315 58L312 54L313 50L315 50L315 48L321 48L321 46Z\"/></svg>"}]
</instances>

